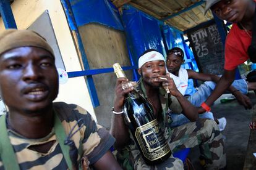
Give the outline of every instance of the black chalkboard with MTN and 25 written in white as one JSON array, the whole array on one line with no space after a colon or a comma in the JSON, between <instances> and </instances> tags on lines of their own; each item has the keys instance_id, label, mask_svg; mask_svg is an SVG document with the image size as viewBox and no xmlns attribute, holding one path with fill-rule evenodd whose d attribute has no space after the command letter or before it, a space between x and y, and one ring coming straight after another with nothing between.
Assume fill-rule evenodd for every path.
<instances>
[{"instance_id":1,"label":"black chalkboard with MTN and 25 written in white","mask_svg":"<svg viewBox=\"0 0 256 170\"><path fill-rule=\"evenodd\" d=\"M222 75L224 71L224 49L215 22L187 33L199 71Z\"/></svg>"}]
</instances>

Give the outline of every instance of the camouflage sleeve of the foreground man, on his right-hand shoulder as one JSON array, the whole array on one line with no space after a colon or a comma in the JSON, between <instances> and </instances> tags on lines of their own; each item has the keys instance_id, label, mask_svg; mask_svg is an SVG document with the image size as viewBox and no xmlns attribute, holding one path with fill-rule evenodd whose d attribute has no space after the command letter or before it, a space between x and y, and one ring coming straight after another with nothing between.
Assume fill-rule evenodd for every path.
<instances>
[{"instance_id":1,"label":"camouflage sleeve of the foreground man, on his right-hand shoulder","mask_svg":"<svg viewBox=\"0 0 256 170\"><path fill-rule=\"evenodd\" d=\"M83 124L83 127L80 129L80 133L74 135L72 139L77 148L79 148L79 140L82 139L83 156L87 156L90 164L98 161L113 146L114 137L104 127L96 124L92 116L82 107L56 102L54 110L58 111L67 134L77 124L77 121L82 119L79 125Z\"/></svg>"}]
</instances>

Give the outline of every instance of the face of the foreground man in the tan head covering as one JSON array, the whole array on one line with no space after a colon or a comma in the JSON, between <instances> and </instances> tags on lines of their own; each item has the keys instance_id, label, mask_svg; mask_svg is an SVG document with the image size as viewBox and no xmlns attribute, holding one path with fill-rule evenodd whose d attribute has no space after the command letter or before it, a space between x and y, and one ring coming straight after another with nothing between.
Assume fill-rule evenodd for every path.
<instances>
[{"instance_id":1,"label":"face of the foreground man in the tan head covering","mask_svg":"<svg viewBox=\"0 0 256 170\"><path fill-rule=\"evenodd\" d=\"M36 112L58 95L54 57L38 47L18 47L0 56L0 90L10 111Z\"/></svg>"}]
</instances>

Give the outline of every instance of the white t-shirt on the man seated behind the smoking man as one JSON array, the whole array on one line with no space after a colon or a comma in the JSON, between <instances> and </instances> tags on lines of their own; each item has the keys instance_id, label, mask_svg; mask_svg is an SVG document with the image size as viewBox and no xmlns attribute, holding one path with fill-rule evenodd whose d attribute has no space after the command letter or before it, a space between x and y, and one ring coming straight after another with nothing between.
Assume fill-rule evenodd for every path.
<instances>
[{"instance_id":1,"label":"white t-shirt on the man seated behind the smoking man","mask_svg":"<svg viewBox=\"0 0 256 170\"><path fill-rule=\"evenodd\" d=\"M188 86L188 81L189 81L189 75L187 73L187 70L184 68L180 68L179 69L179 76L175 76L172 73L169 73L170 77L173 78L174 83L177 87L177 89L179 90L179 92L181 92L182 95L185 95L187 86Z\"/></svg>"}]
</instances>

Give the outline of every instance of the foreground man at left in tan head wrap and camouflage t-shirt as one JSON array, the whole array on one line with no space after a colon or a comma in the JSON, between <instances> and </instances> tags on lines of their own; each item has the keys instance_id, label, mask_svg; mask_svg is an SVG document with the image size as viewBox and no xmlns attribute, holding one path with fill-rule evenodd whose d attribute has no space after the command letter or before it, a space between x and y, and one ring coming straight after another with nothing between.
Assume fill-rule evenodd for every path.
<instances>
[{"instance_id":1,"label":"foreground man at left in tan head wrap and camouflage t-shirt","mask_svg":"<svg viewBox=\"0 0 256 170\"><path fill-rule=\"evenodd\" d=\"M0 169L78 169L82 160L83 169L121 169L105 128L77 105L53 103L58 72L53 49L39 34L0 34L0 79L9 108L0 117Z\"/></svg>"}]
</instances>

